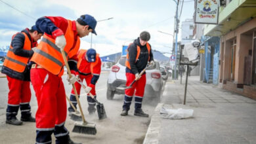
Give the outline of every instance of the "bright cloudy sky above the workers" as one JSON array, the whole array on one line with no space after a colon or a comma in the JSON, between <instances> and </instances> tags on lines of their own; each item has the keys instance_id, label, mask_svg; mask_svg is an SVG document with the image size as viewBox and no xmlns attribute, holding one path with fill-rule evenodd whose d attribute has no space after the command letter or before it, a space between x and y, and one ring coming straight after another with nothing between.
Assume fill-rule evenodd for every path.
<instances>
[{"instance_id":1,"label":"bright cloudy sky above the workers","mask_svg":"<svg viewBox=\"0 0 256 144\"><path fill-rule=\"evenodd\" d=\"M30 28L42 16L62 16L76 20L82 14L91 14L97 21L103 21L96 25L97 35L81 38L80 48L91 48L92 39L92 47L100 56L106 56L121 52L122 46L132 43L141 31L148 31L151 35L148 43L153 50L171 52L173 37L158 31L173 34L175 1L0 0L0 47L10 45L13 34ZM194 1L184 0L179 26L185 19L193 18L193 14ZM112 19L106 20L108 18Z\"/></svg>"}]
</instances>

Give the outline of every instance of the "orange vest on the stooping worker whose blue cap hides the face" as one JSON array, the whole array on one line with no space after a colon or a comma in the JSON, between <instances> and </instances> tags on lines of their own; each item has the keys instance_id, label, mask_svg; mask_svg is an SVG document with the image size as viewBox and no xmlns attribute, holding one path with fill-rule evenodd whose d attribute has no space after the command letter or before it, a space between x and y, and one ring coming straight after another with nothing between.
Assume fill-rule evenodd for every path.
<instances>
[{"instance_id":1,"label":"orange vest on the stooping worker whose blue cap hides the face","mask_svg":"<svg viewBox=\"0 0 256 144\"><path fill-rule=\"evenodd\" d=\"M78 58L78 62L77 62L77 69L78 71L82 71L83 67L80 67L81 62L83 60L83 58L85 58L85 54L86 54L87 50L79 50L78 54L77 54L77 58ZM96 54L96 60L95 62L91 62L91 74L93 75L93 67L95 67L95 65L97 65L98 63L98 59L100 58L99 54Z\"/></svg>"}]
</instances>

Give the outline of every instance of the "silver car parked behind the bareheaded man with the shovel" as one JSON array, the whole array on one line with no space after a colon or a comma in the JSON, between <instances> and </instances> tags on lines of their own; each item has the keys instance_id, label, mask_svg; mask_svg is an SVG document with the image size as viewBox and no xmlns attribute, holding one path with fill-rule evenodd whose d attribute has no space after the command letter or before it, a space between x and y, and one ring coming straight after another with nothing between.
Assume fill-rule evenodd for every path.
<instances>
[{"instance_id":1,"label":"silver car parked behind the bareheaded man with the shovel","mask_svg":"<svg viewBox=\"0 0 256 144\"><path fill-rule=\"evenodd\" d=\"M107 81L107 99L113 99L114 94L125 94L125 60L126 56L121 56L116 65L113 65ZM160 64L155 63L153 67L146 69L145 94L151 94L156 99L160 99L163 88L163 79L161 78Z\"/></svg>"}]
</instances>

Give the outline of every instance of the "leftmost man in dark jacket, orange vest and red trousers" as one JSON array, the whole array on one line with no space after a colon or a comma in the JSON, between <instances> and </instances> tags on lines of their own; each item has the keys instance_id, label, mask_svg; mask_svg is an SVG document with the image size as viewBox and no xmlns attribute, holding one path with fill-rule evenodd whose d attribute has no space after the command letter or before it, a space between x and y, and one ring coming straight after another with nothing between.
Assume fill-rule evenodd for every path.
<instances>
[{"instance_id":1,"label":"leftmost man in dark jacket, orange vest and red trousers","mask_svg":"<svg viewBox=\"0 0 256 144\"><path fill-rule=\"evenodd\" d=\"M6 123L22 125L24 122L35 122L30 112L30 67L28 62L33 55L32 48L43 33L35 26L24 29L12 36L11 46L3 63L1 73L7 75L9 86ZM20 108L20 120L16 118Z\"/></svg>"}]
</instances>

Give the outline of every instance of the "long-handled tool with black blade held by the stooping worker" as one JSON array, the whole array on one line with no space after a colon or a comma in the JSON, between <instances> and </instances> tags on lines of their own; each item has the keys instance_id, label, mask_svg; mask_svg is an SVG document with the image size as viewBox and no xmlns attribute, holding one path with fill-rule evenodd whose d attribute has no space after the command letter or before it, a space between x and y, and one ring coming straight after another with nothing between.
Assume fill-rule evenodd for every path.
<instances>
[{"instance_id":1,"label":"long-handled tool with black blade held by the stooping worker","mask_svg":"<svg viewBox=\"0 0 256 144\"><path fill-rule=\"evenodd\" d=\"M81 84L81 86L83 87L83 89L85 90L86 86L81 82L81 79L78 79L77 82L79 84ZM93 96L93 94L91 94L91 92L89 92L89 95L91 96L91 98L93 98L97 105L96 105L96 108L97 108L97 113L98 113L98 119L99 120L102 120L104 118L107 118L106 117L106 111L105 111L105 108L104 108L104 105L103 103L100 103L98 102L98 100L95 98L95 96Z\"/></svg>"}]
</instances>

